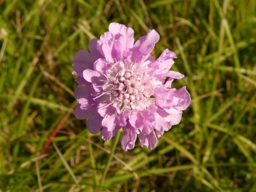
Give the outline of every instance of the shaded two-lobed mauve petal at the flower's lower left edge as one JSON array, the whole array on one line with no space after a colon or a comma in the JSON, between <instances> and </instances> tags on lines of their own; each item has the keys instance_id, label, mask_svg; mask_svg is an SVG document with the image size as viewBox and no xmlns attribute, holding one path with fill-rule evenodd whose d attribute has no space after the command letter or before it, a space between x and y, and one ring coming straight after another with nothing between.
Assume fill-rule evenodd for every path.
<instances>
[{"instance_id":1,"label":"shaded two-lobed mauve petal at the flower's lower left edge","mask_svg":"<svg viewBox=\"0 0 256 192\"><path fill-rule=\"evenodd\" d=\"M82 110L78 104L74 114L77 119L86 119L87 117L89 118L87 125L88 130L92 134L96 134L100 131L102 117L97 113L95 105L87 110Z\"/></svg>"}]
</instances>

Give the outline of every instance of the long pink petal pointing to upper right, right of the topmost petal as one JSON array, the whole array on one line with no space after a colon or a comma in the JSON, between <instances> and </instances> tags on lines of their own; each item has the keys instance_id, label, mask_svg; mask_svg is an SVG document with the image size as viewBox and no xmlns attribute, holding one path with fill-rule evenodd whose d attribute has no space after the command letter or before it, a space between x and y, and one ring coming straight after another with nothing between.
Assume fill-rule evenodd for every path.
<instances>
[{"instance_id":1,"label":"long pink petal pointing to upper right, right of the topmost petal","mask_svg":"<svg viewBox=\"0 0 256 192\"><path fill-rule=\"evenodd\" d=\"M140 61L143 55L150 54L159 38L159 34L154 29L140 37L133 46L133 61Z\"/></svg>"}]
</instances>

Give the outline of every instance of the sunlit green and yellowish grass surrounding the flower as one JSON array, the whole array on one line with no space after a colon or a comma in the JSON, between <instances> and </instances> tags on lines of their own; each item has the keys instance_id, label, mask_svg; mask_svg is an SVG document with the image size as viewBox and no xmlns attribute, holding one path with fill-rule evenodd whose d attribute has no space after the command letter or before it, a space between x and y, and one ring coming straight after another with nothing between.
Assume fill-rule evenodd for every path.
<instances>
[{"instance_id":1,"label":"sunlit green and yellowish grass surrounding the flower","mask_svg":"<svg viewBox=\"0 0 256 192\"><path fill-rule=\"evenodd\" d=\"M0 0L0 191L256 191L255 13L255 0ZM153 151L125 153L70 115L73 55L111 22L135 39L156 29L153 55L177 53L174 86L193 99Z\"/></svg>"}]
</instances>

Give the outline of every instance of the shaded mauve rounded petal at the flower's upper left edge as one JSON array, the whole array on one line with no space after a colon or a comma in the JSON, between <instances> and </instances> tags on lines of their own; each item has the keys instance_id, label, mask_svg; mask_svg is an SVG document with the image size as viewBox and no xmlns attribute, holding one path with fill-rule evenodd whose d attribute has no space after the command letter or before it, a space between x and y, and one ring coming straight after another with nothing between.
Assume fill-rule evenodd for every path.
<instances>
[{"instance_id":1,"label":"shaded mauve rounded petal at the flower's upper left edge","mask_svg":"<svg viewBox=\"0 0 256 192\"><path fill-rule=\"evenodd\" d=\"M80 50L74 55L72 67L75 73L80 74L85 69L92 69L96 58L86 50Z\"/></svg>"}]
</instances>

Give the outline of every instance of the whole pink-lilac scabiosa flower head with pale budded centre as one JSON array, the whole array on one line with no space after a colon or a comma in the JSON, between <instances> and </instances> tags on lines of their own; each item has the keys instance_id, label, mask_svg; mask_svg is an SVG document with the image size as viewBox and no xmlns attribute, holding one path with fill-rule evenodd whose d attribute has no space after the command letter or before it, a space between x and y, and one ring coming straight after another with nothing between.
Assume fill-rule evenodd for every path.
<instances>
[{"instance_id":1,"label":"whole pink-lilac scabiosa flower head with pale budded centre","mask_svg":"<svg viewBox=\"0 0 256 192\"><path fill-rule=\"evenodd\" d=\"M100 39L90 41L90 53L80 50L74 56L76 118L88 118L89 131L101 131L105 141L122 128L124 151L134 148L137 136L142 147L152 150L190 104L185 87L171 88L174 79L184 77L169 71L175 53L166 49L156 60L150 54L158 40L150 30L134 44L132 28L111 23Z\"/></svg>"}]
</instances>

